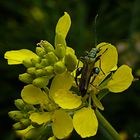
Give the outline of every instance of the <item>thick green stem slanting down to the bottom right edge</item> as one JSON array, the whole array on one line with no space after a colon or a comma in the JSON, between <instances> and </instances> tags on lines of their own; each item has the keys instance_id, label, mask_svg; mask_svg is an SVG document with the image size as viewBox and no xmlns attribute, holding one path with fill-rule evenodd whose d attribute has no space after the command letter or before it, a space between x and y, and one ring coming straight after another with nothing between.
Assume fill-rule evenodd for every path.
<instances>
[{"instance_id":1,"label":"thick green stem slanting down to the bottom right edge","mask_svg":"<svg viewBox=\"0 0 140 140\"><path fill-rule=\"evenodd\" d=\"M108 140L121 140L120 135L117 133L117 131L111 126L111 124L97 109L95 113L98 118L99 124L101 125L101 131L108 138Z\"/></svg>"}]
</instances>

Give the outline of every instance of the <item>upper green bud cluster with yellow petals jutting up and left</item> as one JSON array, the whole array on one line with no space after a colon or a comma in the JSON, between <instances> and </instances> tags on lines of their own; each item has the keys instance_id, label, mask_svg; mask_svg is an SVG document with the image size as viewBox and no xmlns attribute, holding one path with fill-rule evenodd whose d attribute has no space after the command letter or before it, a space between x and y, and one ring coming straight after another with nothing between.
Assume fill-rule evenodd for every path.
<instances>
[{"instance_id":1,"label":"upper green bud cluster with yellow petals jutting up and left","mask_svg":"<svg viewBox=\"0 0 140 140\"><path fill-rule=\"evenodd\" d=\"M63 25L64 20L68 24ZM76 68L75 52L67 46L65 41L70 24L70 17L65 13L56 26L55 49L48 41L42 40L37 44L36 53L27 49L5 53L9 65L23 64L27 68L25 73L19 75L22 82L44 88L56 74L66 70L73 71ZM62 25L63 32L61 32Z\"/></svg>"}]
</instances>

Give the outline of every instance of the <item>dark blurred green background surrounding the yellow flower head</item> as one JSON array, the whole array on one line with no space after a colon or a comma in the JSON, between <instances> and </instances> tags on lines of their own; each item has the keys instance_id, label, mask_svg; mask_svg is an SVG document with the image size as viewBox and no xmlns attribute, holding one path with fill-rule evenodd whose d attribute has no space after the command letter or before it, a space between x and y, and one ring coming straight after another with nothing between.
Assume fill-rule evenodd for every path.
<instances>
[{"instance_id":1,"label":"dark blurred green background surrounding the yellow flower head","mask_svg":"<svg viewBox=\"0 0 140 140\"><path fill-rule=\"evenodd\" d=\"M67 44L78 56L95 46L110 42L119 51L119 65L128 64L140 77L140 1L139 0L4 0L0 1L0 139L16 140L7 113L16 109L24 86L18 80L23 66L8 66L3 56L7 50L35 50L40 40L53 44L57 20L67 11L72 26ZM95 16L98 14L95 26ZM95 34L96 28L96 34ZM118 132L130 140L140 140L140 82L136 80L124 93L103 99L104 116ZM98 133L100 135L100 131ZM95 137L105 140L104 136Z\"/></svg>"}]
</instances>

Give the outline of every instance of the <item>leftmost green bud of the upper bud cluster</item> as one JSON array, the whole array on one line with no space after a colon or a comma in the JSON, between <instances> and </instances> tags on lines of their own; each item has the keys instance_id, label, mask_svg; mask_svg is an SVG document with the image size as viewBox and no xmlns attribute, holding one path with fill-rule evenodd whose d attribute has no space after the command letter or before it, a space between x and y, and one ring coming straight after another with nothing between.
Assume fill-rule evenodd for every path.
<instances>
[{"instance_id":1,"label":"leftmost green bud of the upper bud cluster","mask_svg":"<svg viewBox=\"0 0 140 140\"><path fill-rule=\"evenodd\" d=\"M30 84L33 81L33 77L28 73L23 73L19 75L19 80L24 83Z\"/></svg>"}]
</instances>

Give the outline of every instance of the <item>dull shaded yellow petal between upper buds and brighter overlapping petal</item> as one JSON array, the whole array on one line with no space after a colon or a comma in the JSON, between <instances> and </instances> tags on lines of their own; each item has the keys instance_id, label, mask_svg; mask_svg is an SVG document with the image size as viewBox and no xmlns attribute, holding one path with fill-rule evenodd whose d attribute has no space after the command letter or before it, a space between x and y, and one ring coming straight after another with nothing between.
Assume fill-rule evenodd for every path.
<instances>
[{"instance_id":1,"label":"dull shaded yellow petal between upper buds and brighter overlapping petal","mask_svg":"<svg viewBox=\"0 0 140 140\"><path fill-rule=\"evenodd\" d=\"M58 89L69 90L72 86L73 80L74 80L74 77L72 77L69 72L57 74L54 77L51 87L50 87L50 96L53 96L53 94Z\"/></svg>"}]
</instances>

